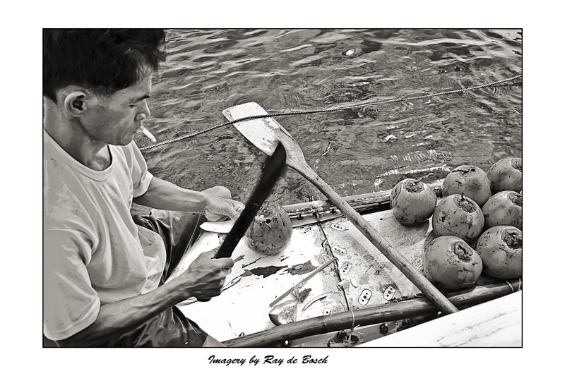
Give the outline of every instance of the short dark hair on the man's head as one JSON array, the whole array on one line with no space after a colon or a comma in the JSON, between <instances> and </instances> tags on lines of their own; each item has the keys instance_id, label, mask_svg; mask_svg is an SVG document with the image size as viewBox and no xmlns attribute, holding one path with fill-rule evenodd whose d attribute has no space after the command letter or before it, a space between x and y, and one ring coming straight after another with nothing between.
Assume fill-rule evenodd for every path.
<instances>
[{"instance_id":1,"label":"short dark hair on the man's head","mask_svg":"<svg viewBox=\"0 0 565 376\"><path fill-rule=\"evenodd\" d=\"M81 85L111 95L155 71L165 59L165 31L157 29L43 30L43 95Z\"/></svg>"}]
</instances>

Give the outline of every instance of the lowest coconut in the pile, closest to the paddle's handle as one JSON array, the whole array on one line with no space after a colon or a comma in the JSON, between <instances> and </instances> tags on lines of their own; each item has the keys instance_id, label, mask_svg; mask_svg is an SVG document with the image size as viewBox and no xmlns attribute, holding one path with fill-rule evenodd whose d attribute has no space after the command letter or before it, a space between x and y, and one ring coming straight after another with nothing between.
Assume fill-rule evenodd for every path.
<instances>
[{"instance_id":1,"label":"lowest coconut in the pile, closest to the paddle's handle","mask_svg":"<svg viewBox=\"0 0 565 376\"><path fill-rule=\"evenodd\" d=\"M424 275L432 284L448 290L465 289L477 283L481 257L456 236L440 236L424 251Z\"/></svg>"}]
</instances>

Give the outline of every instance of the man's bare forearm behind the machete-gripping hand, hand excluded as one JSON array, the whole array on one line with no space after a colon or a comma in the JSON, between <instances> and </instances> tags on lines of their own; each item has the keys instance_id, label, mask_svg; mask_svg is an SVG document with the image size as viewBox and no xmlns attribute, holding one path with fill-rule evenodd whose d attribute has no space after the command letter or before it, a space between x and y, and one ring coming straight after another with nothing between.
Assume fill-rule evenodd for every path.
<instances>
[{"instance_id":1,"label":"man's bare forearm behind the machete-gripping hand, hand excluded","mask_svg":"<svg viewBox=\"0 0 565 376\"><path fill-rule=\"evenodd\" d=\"M190 294L179 285L179 280L173 279L149 293L102 305L92 325L67 339L57 341L57 344L99 346L189 297Z\"/></svg>"}]
</instances>

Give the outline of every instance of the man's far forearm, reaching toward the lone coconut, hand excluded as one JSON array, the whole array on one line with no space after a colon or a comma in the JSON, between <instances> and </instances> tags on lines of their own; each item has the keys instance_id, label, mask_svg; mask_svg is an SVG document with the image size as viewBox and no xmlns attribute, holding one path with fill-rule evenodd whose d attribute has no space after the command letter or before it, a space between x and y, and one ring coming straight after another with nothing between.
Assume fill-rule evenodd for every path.
<instances>
[{"instance_id":1,"label":"man's far forearm, reaching toward the lone coconut, hand excluded","mask_svg":"<svg viewBox=\"0 0 565 376\"><path fill-rule=\"evenodd\" d=\"M134 198L133 202L155 209L203 214L206 193L180 188L153 176L147 192Z\"/></svg>"}]
</instances>

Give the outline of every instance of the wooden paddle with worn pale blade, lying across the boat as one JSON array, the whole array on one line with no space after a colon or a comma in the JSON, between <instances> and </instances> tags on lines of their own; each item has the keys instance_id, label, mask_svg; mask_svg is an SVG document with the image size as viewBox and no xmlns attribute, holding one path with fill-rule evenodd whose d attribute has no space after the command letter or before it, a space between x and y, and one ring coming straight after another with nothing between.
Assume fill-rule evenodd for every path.
<instances>
[{"instance_id":1,"label":"wooden paddle with worn pale blade, lying across the boat","mask_svg":"<svg viewBox=\"0 0 565 376\"><path fill-rule=\"evenodd\" d=\"M224 116L233 121L234 119L242 119L245 116L268 114L263 107L255 102L240 104L239 106L230 107L223 111ZM393 247L376 229L374 229L361 214L356 212L343 198L335 193L335 191L323 181L314 170L307 164L304 159L304 154L300 149L298 143L292 138L283 126L272 118L254 119L249 121L242 121L241 123L234 123L237 131L242 133L244 137L249 140L253 145L258 147L262 152L270 155L273 154L278 142L282 143L287 152L286 163L292 167L299 174L307 178L321 193L333 202L333 205L338 207L347 219L366 236L373 245L378 248L383 255L390 260L393 265L398 267L403 274L410 279L410 281L417 286L427 298L434 302L443 313L455 313L457 308L430 283L412 265L406 258Z\"/></svg>"}]
</instances>

